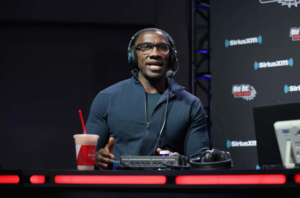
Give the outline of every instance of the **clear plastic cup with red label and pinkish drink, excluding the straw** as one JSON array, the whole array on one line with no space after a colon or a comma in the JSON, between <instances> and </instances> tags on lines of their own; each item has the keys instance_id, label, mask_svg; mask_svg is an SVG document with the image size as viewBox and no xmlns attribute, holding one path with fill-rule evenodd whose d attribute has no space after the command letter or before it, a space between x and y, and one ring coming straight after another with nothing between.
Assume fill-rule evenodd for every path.
<instances>
[{"instance_id":1,"label":"clear plastic cup with red label and pinkish drink, excluding the straw","mask_svg":"<svg viewBox=\"0 0 300 198\"><path fill-rule=\"evenodd\" d=\"M94 170L97 141L99 136L92 134L74 135L78 170Z\"/></svg>"}]
</instances>

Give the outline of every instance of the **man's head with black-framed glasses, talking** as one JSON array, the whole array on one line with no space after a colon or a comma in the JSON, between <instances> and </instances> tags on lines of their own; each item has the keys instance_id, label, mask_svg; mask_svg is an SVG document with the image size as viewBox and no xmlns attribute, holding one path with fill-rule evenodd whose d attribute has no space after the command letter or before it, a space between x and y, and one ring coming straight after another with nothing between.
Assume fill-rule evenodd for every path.
<instances>
[{"instance_id":1,"label":"man's head with black-framed glasses, talking","mask_svg":"<svg viewBox=\"0 0 300 198\"><path fill-rule=\"evenodd\" d=\"M167 36L159 30L145 31L137 36L134 46L137 50L137 64L140 69L139 78L144 77L148 80L164 78L171 51ZM165 47L168 47L168 52ZM165 52L167 53L164 54Z\"/></svg>"}]
</instances>

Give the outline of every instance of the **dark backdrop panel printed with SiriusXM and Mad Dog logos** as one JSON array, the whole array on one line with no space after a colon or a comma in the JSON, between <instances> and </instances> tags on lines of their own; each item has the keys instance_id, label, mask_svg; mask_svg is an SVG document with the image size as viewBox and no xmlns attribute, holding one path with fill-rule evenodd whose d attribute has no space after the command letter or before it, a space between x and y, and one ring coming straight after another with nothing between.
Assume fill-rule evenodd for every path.
<instances>
[{"instance_id":1,"label":"dark backdrop panel printed with SiriusXM and Mad Dog logos","mask_svg":"<svg viewBox=\"0 0 300 198\"><path fill-rule=\"evenodd\" d=\"M299 91L284 90L285 85L300 84L300 41L292 41L289 35L292 27L300 27L300 4L296 5L211 1L212 139L214 147L231 153L236 169L255 169L258 164L253 107L300 98ZM230 45L254 37L254 43ZM280 60L288 65L257 67ZM243 84L252 86L245 90L250 96L234 97L234 85ZM234 147L235 141L252 142Z\"/></svg>"}]
</instances>

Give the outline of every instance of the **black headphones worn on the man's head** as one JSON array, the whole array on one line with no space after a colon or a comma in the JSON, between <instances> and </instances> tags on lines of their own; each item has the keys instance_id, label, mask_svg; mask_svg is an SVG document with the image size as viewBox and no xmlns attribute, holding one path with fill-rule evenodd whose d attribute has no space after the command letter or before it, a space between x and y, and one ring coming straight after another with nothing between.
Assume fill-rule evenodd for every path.
<instances>
[{"instance_id":1,"label":"black headphones worn on the man's head","mask_svg":"<svg viewBox=\"0 0 300 198\"><path fill-rule=\"evenodd\" d=\"M174 67L176 59L177 59L177 51L175 48L175 42L174 42L173 38L167 32L164 32L164 31L162 31L160 29L156 29L156 28L142 29L133 35L133 37L131 38L131 40L129 42L128 49L127 49L127 58L128 58L129 64L131 64L134 68L138 69L137 50L135 49L135 46L134 45L131 46L131 44L140 33L146 32L146 31L159 31L159 32L164 33L164 35L167 36L167 38L171 44L168 68Z\"/></svg>"}]
</instances>

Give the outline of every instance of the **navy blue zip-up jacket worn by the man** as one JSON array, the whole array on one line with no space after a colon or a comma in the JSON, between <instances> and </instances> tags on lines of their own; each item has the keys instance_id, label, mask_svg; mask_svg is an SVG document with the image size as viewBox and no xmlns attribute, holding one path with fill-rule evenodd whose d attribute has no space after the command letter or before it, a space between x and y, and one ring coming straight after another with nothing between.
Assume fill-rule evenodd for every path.
<instances>
[{"instance_id":1,"label":"navy blue zip-up jacket worn by the man","mask_svg":"<svg viewBox=\"0 0 300 198\"><path fill-rule=\"evenodd\" d=\"M132 70L131 79L100 91L92 102L86 123L88 134L100 136L97 151L104 148L109 137L115 139L115 160L122 154L153 155L164 123L168 90L148 118L147 127L145 90L137 72L137 69ZM202 103L173 79L167 80L171 83L167 119L156 148L190 157L200 156L209 149Z\"/></svg>"}]
</instances>

